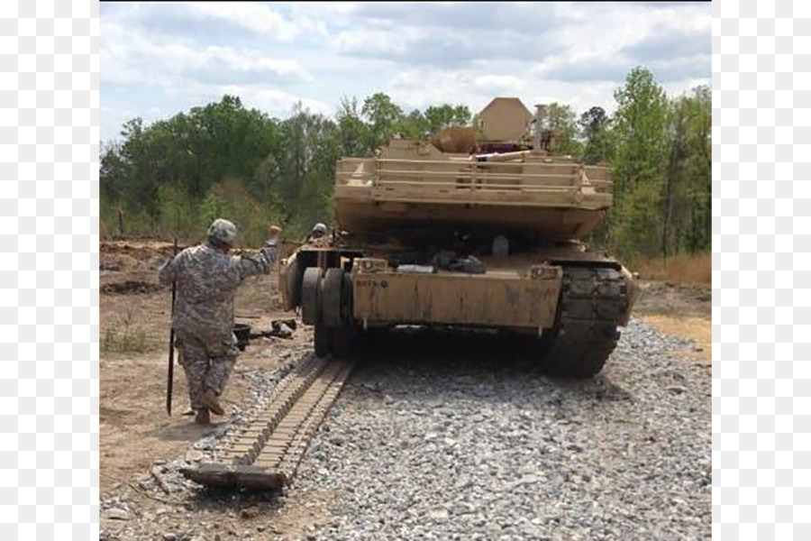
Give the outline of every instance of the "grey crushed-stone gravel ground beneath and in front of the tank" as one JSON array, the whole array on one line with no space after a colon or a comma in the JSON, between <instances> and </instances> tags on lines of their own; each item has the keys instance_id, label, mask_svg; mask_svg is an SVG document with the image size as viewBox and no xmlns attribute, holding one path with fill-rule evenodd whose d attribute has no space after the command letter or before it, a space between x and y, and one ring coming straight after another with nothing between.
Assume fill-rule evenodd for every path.
<instances>
[{"instance_id":1,"label":"grey crushed-stone gravel ground beneath and in front of the tank","mask_svg":"<svg viewBox=\"0 0 811 541\"><path fill-rule=\"evenodd\" d=\"M179 474L223 426L155 467L169 494L146 472L141 495L103 500L101 537L710 538L711 367L673 353L694 347L632 320L597 378L570 381L514 340L393 333L370 345L285 493L204 491ZM307 351L246 374L254 404Z\"/></svg>"}]
</instances>

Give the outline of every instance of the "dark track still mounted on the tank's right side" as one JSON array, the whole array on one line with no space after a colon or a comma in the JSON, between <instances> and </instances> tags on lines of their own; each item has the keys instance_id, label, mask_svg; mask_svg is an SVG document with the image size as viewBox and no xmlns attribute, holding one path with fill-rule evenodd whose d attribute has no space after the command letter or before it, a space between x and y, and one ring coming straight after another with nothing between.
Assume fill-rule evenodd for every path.
<instances>
[{"instance_id":1,"label":"dark track still mounted on the tank's right side","mask_svg":"<svg viewBox=\"0 0 811 541\"><path fill-rule=\"evenodd\" d=\"M630 300L623 274L608 267L564 266L560 310L546 352L551 373L588 378L614 351Z\"/></svg>"}]
</instances>

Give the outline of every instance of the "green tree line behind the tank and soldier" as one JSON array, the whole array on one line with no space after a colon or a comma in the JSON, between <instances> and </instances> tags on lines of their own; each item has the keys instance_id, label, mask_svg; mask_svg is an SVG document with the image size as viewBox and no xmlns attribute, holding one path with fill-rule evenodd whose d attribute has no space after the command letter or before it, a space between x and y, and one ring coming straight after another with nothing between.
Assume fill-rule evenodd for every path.
<instances>
[{"instance_id":1,"label":"green tree line behind the tank and soldier","mask_svg":"<svg viewBox=\"0 0 811 541\"><path fill-rule=\"evenodd\" d=\"M636 68L615 101L613 115L598 106L582 115L565 104L547 110L558 151L613 170L615 205L589 240L626 257L708 250L709 87L670 97ZM149 125L134 118L101 146L101 233L193 242L222 216L244 244L259 244L271 223L301 237L315 222L333 221L339 158L371 156L395 134L427 140L475 121L466 105L409 111L383 93L345 97L334 117L299 104L282 120L223 96Z\"/></svg>"}]
</instances>

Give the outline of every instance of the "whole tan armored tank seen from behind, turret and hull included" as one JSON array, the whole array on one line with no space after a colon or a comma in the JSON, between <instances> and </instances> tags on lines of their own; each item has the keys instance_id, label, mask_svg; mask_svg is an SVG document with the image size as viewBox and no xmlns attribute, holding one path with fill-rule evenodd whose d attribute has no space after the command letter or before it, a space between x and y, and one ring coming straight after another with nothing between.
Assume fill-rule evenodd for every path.
<instances>
[{"instance_id":1,"label":"whole tan armored tank seen from behind, turret and hull included","mask_svg":"<svg viewBox=\"0 0 811 541\"><path fill-rule=\"evenodd\" d=\"M335 232L279 273L317 355L373 328L482 327L536 337L553 373L602 370L635 296L631 273L581 241L611 206L610 171L556 154L544 111L498 97L472 140L456 129L338 161Z\"/></svg>"}]
</instances>

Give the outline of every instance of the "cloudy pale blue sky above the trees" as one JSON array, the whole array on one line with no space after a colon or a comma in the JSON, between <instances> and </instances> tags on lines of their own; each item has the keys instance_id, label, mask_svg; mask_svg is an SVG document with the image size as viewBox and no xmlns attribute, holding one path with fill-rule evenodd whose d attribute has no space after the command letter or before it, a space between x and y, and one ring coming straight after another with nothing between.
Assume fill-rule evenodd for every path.
<instances>
[{"instance_id":1,"label":"cloudy pale blue sky above the trees","mask_svg":"<svg viewBox=\"0 0 811 541\"><path fill-rule=\"evenodd\" d=\"M670 95L711 78L711 4L102 3L101 138L225 94L285 118L385 92L406 111L495 96L615 109L642 65Z\"/></svg>"}]
</instances>

